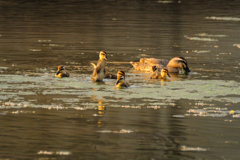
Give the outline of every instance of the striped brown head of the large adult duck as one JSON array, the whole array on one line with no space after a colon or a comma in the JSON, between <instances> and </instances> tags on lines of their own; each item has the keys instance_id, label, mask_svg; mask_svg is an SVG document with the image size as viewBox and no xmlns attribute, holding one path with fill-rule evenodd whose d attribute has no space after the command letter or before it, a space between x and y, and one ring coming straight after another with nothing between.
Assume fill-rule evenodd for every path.
<instances>
[{"instance_id":1,"label":"striped brown head of the large adult duck","mask_svg":"<svg viewBox=\"0 0 240 160\"><path fill-rule=\"evenodd\" d=\"M172 67L183 69L186 74L191 72L188 68L187 60L184 57L174 57L169 61L168 64L170 64Z\"/></svg>"}]
</instances>

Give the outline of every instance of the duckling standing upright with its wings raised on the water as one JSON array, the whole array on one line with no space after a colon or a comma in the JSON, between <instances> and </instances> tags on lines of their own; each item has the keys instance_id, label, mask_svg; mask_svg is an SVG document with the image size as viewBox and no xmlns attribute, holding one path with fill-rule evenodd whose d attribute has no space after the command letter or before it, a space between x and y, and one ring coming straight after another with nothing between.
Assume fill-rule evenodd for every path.
<instances>
[{"instance_id":1,"label":"duckling standing upright with its wings raised on the water","mask_svg":"<svg viewBox=\"0 0 240 160\"><path fill-rule=\"evenodd\" d=\"M94 67L91 77L92 81L102 82L103 78L105 78L105 60L108 60L107 53L105 51L100 51L97 65L91 63L91 65Z\"/></svg>"}]
</instances>

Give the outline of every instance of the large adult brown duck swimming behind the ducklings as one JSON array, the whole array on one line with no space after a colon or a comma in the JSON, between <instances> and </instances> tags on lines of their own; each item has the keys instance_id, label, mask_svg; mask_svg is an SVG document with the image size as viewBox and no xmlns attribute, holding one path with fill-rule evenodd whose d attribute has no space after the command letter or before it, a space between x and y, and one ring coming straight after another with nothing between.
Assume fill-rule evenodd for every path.
<instances>
[{"instance_id":1,"label":"large adult brown duck swimming behind the ducklings","mask_svg":"<svg viewBox=\"0 0 240 160\"><path fill-rule=\"evenodd\" d=\"M156 66L159 69L166 68L170 73L188 74L191 72L184 57L174 57L170 61L166 59L141 58L139 62L131 61L130 63L135 70L144 72L152 71L152 66Z\"/></svg>"}]
</instances>

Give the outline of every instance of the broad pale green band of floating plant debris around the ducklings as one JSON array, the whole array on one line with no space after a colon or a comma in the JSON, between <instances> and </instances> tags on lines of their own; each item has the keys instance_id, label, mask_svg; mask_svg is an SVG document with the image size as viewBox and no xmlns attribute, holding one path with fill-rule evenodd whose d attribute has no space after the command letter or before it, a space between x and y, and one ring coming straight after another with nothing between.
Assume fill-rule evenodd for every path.
<instances>
[{"instance_id":1,"label":"broad pale green band of floating plant debris around the ducklings","mask_svg":"<svg viewBox=\"0 0 240 160\"><path fill-rule=\"evenodd\" d=\"M81 76L85 77L85 75ZM134 80L131 81L133 84L135 83ZM162 101L166 102L166 100L204 99L205 101L240 102L240 86L239 83L235 81L188 80L164 82L164 85L137 82L131 89L119 91L113 87L115 81L110 80L106 81L105 84L97 85L83 78L79 80L79 77L58 80L52 76L29 77L22 75L2 75L0 79L0 88L2 88L2 92L0 93L0 101L2 101L2 103L0 103L0 107L41 107L56 110L76 107L77 110L85 110L96 107L95 103L84 103L84 101L82 101L91 97L111 97L111 99L108 98L107 102L116 101L116 99L123 99L125 102L131 101L131 99L148 99L149 102L152 101L147 105L148 108L154 109L159 109L164 105L161 104ZM46 99L46 101L61 101L61 104L36 103L34 97L38 96ZM23 101L23 99L28 100ZM158 103L156 103L156 101L158 101ZM64 106L64 104L67 105ZM119 104L115 106L139 109L142 107L141 104L134 106Z\"/></svg>"}]
</instances>

